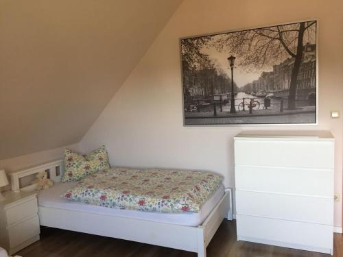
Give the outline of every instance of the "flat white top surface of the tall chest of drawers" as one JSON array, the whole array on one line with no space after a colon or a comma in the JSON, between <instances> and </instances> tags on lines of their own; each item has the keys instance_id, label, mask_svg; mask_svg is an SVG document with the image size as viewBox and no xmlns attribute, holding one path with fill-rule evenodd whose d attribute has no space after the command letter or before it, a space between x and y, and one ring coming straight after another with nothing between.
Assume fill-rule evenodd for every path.
<instances>
[{"instance_id":1,"label":"flat white top surface of the tall chest of drawers","mask_svg":"<svg viewBox=\"0 0 343 257\"><path fill-rule=\"evenodd\" d=\"M246 139L277 139L277 140L329 140L333 141L335 138L329 131L324 130L309 130L309 131L244 131L237 136L235 140Z\"/></svg>"}]
</instances>

